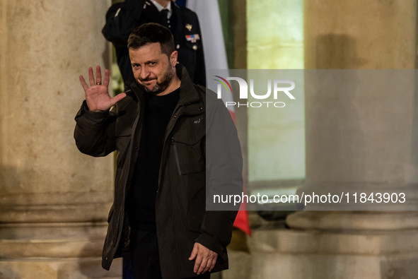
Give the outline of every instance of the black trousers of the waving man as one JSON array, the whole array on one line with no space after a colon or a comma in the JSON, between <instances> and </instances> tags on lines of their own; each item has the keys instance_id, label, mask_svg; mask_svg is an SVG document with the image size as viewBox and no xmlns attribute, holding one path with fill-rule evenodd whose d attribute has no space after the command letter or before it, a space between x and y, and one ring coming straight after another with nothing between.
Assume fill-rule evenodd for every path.
<instances>
[{"instance_id":1,"label":"black trousers of the waving man","mask_svg":"<svg viewBox=\"0 0 418 279\"><path fill-rule=\"evenodd\" d=\"M124 259L124 265L130 262L130 268L124 266L124 278L162 279L157 235L155 232L131 230L129 249L130 261ZM131 274L125 274L129 273L129 270ZM209 279L210 276L210 273L205 273L192 278Z\"/></svg>"}]
</instances>

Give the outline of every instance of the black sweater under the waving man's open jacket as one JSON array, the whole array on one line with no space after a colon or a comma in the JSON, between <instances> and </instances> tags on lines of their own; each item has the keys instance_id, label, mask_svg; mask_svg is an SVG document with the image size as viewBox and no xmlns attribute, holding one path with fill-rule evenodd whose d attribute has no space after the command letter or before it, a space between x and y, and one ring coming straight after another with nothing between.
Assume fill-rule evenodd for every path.
<instances>
[{"instance_id":1,"label":"black sweater under the waving man's open jacket","mask_svg":"<svg viewBox=\"0 0 418 279\"><path fill-rule=\"evenodd\" d=\"M137 230L156 230L155 201L163 141L179 96L180 88L163 96L146 94L138 160L127 197L129 225Z\"/></svg>"}]
</instances>

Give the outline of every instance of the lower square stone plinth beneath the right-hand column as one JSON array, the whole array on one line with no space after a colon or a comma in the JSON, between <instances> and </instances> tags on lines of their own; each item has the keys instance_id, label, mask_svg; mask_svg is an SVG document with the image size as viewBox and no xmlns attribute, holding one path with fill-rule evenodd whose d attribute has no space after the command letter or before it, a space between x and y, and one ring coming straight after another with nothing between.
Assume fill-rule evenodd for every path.
<instances>
[{"instance_id":1,"label":"lower square stone plinth beneath the right-hand column","mask_svg":"<svg viewBox=\"0 0 418 279\"><path fill-rule=\"evenodd\" d=\"M418 230L260 230L250 278L418 278L417 241Z\"/></svg>"}]
</instances>

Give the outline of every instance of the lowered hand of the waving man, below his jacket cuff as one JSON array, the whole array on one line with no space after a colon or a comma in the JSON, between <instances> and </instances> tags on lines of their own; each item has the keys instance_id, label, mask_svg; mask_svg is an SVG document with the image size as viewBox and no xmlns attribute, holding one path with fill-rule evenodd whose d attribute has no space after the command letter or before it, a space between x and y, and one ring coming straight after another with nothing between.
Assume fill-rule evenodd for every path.
<instances>
[{"instance_id":1,"label":"lowered hand of the waving man, below his jacket cuff","mask_svg":"<svg viewBox=\"0 0 418 279\"><path fill-rule=\"evenodd\" d=\"M193 246L189 261L196 259L195 268L193 268L193 271L197 273L197 275L200 275L207 271L212 271L215 266L217 257L217 253L207 249L202 244L195 242L195 246Z\"/></svg>"}]
</instances>

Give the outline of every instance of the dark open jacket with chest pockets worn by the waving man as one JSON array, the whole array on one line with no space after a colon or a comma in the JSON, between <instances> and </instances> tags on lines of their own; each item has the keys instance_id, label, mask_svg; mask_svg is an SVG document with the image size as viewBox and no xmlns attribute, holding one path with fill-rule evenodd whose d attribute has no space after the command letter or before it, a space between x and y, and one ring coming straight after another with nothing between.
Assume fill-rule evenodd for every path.
<instances>
[{"instance_id":1,"label":"dark open jacket with chest pockets worn by the waving man","mask_svg":"<svg viewBox=\"0 0 418 279\"><path fill-rule=\"evenodd\" d=\"M177 71L180 100L166 130L156 197L163 278L196 275L195 261L188 261L195 242L219 254L212 272L228 268L226 245L239 205L222 211L207 210L205 198L224 194L224 189L229 194L240 194L243 183L240 145L228 110L214 93L208 95L204 88L194 85L180 64ZM134 141L134 133L140 137L144 104L141 89L133 84L132 90L110 112L89 112L84 101L76 115L74 137L81 152L105 156L117 150L115 200L103 247L105 269L110 268L112 259L121 256L129 239L125 199L141 148L137 146L140 141ZM211 160L207 160L207 148L211 149Z\"/></svg>"}]
</instances>

